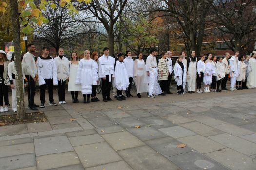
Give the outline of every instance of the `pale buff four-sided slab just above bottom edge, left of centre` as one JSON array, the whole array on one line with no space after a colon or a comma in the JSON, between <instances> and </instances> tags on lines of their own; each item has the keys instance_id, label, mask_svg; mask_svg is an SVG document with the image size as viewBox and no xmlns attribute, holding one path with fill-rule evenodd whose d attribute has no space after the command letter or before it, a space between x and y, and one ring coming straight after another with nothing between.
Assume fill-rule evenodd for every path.
<instances>
[{"instance_id":1,"label":"pale buff four-sided slab just above bottom edge, left of centre","mask_svg":"<svg viewBox=\"0 0 256 170\"><path fill-rule=\"evenodd\" d=\"M74 147L85 168L122 160L106 142Z\"/></svg>"}]
</instances>

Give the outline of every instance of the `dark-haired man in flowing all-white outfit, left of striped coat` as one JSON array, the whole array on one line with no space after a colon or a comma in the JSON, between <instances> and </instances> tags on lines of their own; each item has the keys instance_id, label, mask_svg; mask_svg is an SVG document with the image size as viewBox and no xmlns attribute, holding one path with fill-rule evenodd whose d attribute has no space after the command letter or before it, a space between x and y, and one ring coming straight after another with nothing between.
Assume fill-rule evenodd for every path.
<instances>
[{"instance_id":1,"label":"dark-haired man in flowing all-white outfit, left of striped coat","mask_svg":"<svg viewBox=\"0 0 256 170\"><path fill-rule=\"evenodd\" d=\"M146 67L148 69L149 76L149 88L148 97L155 98L156 95L161 94L162 90L158 83L158 65L155 55L157 54L157 49L150 48L150 55L147 57Z\"/></svg>"}]
</instances>

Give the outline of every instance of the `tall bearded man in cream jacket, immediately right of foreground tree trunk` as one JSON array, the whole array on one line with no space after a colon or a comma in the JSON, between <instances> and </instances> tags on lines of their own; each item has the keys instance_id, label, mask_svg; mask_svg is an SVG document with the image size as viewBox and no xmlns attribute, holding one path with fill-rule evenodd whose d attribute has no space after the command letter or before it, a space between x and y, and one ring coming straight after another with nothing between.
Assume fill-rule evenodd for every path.
<instances>
[{"instance_id":1,"label":"tall bearded man in cream jacket, immediately right of foreground tree trunk","mask_svg":"<svg viewBox=\"0 0 256 170\"><path fill-rule=\"evenodd\" d=\"M22 66L28 80L28 107L31 110L38 110L37 107L39 107L39 105L34 103L38 70L35 56L32 54L36 51L36 48L34 44L28 44L27 48L28 52L23 56Z\"/></svg>"}]
</instances>

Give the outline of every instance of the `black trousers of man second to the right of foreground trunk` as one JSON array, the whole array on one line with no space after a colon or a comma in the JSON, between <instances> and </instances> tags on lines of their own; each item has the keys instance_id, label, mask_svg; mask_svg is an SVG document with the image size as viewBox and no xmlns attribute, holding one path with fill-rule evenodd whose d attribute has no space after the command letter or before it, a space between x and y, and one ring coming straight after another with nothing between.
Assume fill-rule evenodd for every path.
<instances>
[{"instance_id":1,"label":"black trousers of man second to the right of foreground trunk","mask_svg":"<svg viewBox=\"0 0 256 170\"><path fill-rule=\"evenodd\" d=\"M45 103L45 90L48 86L48 93L49 93L49 101L50 103L53 102L53 79L44 79L45 83L44 85L40 86L40 100L41 103Z\"/></svg>"}]
</instances>

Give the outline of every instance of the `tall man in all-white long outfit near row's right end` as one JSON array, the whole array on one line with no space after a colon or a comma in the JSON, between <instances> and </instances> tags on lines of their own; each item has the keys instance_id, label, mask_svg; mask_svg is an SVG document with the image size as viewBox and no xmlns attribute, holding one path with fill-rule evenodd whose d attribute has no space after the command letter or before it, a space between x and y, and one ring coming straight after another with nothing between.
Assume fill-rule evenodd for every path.
<instances>
[{"instance_id":1,"label":"tall man in all-white long outfit near row's right end","mask_svg":"<svg viewBox=\"0 0 256 170\"><path fill-rule=\"evenodd\" d=\"M239 64L238 64L239 51L236 51L235 56L232 56L229 60L230 64L230 91L235 91L236 79L240 74Z\"/></svg>"}]
</instances>

